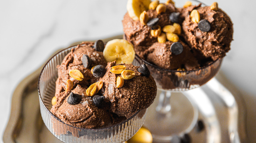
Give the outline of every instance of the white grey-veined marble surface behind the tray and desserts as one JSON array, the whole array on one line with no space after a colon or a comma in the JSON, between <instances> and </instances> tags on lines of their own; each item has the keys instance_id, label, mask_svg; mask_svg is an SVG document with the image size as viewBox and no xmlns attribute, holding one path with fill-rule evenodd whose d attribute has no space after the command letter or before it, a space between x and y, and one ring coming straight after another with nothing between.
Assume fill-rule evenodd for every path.
<instances>
[{"instance_id":1,"label":"white grey-veined marble surface behind the tray and desserts","mask_svg":"<svg viewBox=\"0 0 256 143\"><path fill-rule=\"evenodd\" d=\"M59 48L75 41L122 34L126 2L0 1L0 141L9 120L12 93L18 83ZM211 5L214 0L203 2ZM225 57L221 70L245 98L248 137L256 142L256 1L219 0L218 3L234 23L232 50Z\"/></svg>"}]
</instances>

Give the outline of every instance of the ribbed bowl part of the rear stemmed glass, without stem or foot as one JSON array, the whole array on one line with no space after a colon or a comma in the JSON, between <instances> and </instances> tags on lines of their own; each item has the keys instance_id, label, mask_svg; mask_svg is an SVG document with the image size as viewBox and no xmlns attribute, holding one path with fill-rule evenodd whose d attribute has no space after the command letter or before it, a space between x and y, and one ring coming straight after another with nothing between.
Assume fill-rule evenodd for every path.
<instances>
[{"instance_id":1,"label":"ribbed bowl part of the rear stemmed glass, without stem or foot","mask_svg":"<svg viewBox=\"0 0 256 143\"><path fill-rule=\"evenodd\" d=\"M191 71L176 71L163 69L141 59L137 54L133 64L140 66L146 64L151 75L161 90L184 91L200 87L212 79L220 70L222 59L217 59L211 64Z\"/></svg>"}]
</instances>

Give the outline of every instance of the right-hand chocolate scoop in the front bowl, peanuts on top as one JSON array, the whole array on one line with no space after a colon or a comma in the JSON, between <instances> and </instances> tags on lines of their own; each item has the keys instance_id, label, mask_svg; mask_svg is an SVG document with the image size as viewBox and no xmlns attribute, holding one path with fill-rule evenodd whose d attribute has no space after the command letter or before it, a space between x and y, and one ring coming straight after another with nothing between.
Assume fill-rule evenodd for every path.
<instances>
[{"instance_id":1,"label":"right-hand chocolate scoop in the front bowl, peanuts on top","mask_svg":"<svg viewBox=\"0 0 256 143\"><path fill-rule=\"evenodd\" d=\"M149 107L157 93L157 86L152 76L145 77L139 73L137 66L123 64L126 70L134 71L135 76L131 79L124 79L124 85L120 88L116 86L117 76L121 74L112 73L111 67L116 62L109 62L105 75L100 78L102 81L105 101L110 104L110 111L118 116L129 117L140 109Z\"/></svg>"}]
</instances>

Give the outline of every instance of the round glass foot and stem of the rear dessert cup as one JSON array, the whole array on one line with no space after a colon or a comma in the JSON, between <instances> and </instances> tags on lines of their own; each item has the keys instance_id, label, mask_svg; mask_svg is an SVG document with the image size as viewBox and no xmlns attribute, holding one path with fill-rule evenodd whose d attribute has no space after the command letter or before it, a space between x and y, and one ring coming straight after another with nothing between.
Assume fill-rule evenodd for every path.
<instances>
[{"instance_id":1,"label":"round glass foot and stem of the rear dessert cup","mask_svg":"<svg viewBox=\"0 0 256 143\"><path fill-rule=\"evenodd\" d=\"M170 141L173 136L190 132L198 119L198 108L192 100L181 92L170 93L159 89L147 113L143 126L150 130L153 140L157 142Z\"/></svg>"}]
</instances>

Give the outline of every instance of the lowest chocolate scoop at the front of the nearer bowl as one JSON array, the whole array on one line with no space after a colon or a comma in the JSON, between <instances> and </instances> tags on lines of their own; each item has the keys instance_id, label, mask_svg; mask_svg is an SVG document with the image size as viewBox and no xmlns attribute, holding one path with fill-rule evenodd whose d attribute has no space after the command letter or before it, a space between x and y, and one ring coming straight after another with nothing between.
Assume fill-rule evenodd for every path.
<instances>
[{"instance_id":1,"label":"lowest chocolate scoop at the front of the nearer bowl","mask_svg":"<svg viewBox=\"0 0 256 143\"><path fill-rule=\"evenodd\" d=\"M77 85L71 92L80 96L79 103L70 104L68 102L70 92L65 93L51 109L57 118L66 124L89 129L113 124L112 115L105 108L96 107L92 97L86 96L85 88Z\"/></svg>"}]
</instances>

